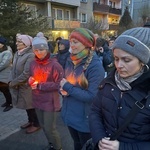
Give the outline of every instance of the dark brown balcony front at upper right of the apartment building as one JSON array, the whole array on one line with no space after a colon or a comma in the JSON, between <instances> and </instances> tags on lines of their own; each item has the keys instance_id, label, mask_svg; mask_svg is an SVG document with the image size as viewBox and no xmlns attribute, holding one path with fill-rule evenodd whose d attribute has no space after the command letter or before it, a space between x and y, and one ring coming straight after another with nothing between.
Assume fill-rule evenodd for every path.
<instances>
[{"instance_id":1,"label":"dark brown balcony front at upper right of the apartment building","mask_svg":"<svg viewBox=\"0 0 150 150\"><path fill-rule=\"evenodd\" d=\"M116 14L121 15L121 9L112 8L105 4L98 4L96 2L93 3L93 12L100 12L104 14Z\"/></svg>"}]
</instances>

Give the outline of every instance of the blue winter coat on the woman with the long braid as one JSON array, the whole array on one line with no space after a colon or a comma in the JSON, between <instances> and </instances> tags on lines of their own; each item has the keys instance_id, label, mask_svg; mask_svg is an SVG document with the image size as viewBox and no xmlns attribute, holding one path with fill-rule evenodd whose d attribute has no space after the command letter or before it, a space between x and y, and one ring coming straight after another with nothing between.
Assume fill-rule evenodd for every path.
<instances>
[{"instance_id":1,"label":"blue winter coat on the woman with the long braid","mask_svg":"<svg viewBox=\"0 0 150 150\"><path fill-rule=\"evenodd\" d=\"M96 96L98 85L104 78L103 66L95 54L85 71L85 77L89 83L88 88L83 89L77 83L78 77L83 71L83 65L86 59L87 58L83 59L82 62L75 67L71 59L68 58L65 66L65 78L70 75L68 80L71 83L67 82L63 86L63 89L68 93L68 96L63 97L63 120L67 126L80 132L90 132L88 123L90 105Z\"/></svg>"}]
</instances>

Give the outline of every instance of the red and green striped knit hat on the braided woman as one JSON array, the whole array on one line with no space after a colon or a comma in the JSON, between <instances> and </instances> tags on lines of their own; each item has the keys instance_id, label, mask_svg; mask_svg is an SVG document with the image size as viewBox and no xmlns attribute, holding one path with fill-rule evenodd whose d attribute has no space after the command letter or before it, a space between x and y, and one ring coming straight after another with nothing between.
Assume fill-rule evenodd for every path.
<instances>
[{"instance_id":1,"label":"red and green striped knit hat on the braided woman","mask_svg":"<svg viewBox=\"0 0 150 150\"><path fill-rule=\"evenodd\" d=\"M77 28L70 34L70 39L75 38L86 47L92 48L95 46L94 34L86 28Z\"/></svg>"}]
</instances>

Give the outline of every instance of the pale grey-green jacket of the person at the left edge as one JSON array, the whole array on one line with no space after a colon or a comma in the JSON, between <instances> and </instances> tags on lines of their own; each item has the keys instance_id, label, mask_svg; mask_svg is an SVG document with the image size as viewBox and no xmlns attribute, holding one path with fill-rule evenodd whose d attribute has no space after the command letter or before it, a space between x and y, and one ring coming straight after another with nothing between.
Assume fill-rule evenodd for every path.
<instances>
[{"instance_id":1,"label":"pale grey-green jacket of the person at the left edge","mask_svg":"<svg viewBox=\"0 0 150 150\"><path fill-rule=\"evenodd\" d=\"M12 50L7 47L7 50L0 52L0 82L8 83L8 78L12 66Z\"/></svg>"}]
</instances>

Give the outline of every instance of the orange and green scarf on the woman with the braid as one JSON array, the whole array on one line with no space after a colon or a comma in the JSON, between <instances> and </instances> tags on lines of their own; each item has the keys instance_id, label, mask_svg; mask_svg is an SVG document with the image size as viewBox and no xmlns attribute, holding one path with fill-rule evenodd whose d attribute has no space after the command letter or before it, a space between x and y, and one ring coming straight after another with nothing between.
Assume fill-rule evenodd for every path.
<instances>
[{"instance_id":1,"label":"orange and green scarf on the woman with the braid","mask_svg":"<svg viewBox=\"0 0 150 150\"><path fill-rule=\"evenodd\" d=\"M74 65L79 64L85 57L89 55L89 51L87 49L82 50L77 54L71 54L70 58Z\"/></svg>"}]
</instances>

